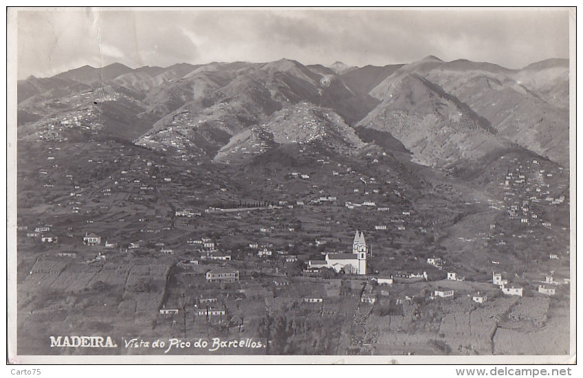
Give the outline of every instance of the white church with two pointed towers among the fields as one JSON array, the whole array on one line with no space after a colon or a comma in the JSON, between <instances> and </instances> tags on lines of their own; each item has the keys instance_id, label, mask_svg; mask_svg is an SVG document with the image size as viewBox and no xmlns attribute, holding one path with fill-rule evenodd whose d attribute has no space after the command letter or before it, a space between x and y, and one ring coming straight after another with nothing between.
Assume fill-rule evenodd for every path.
<instances>
[{"instance_id":1,"label":"white church with two pointed towers among the fields","mask_svg":"<svg viewBox=\"0 0 583 378\"><path fill-rule=\"evenodd\" d=\"M364 241L364 232L354 235L352 242L352 253L329 253L326 260L309 260L308 269L332 268L335 271L344 271L348 274L366 274L366 254L368 248Z\"/></svg>"}]
</instances>

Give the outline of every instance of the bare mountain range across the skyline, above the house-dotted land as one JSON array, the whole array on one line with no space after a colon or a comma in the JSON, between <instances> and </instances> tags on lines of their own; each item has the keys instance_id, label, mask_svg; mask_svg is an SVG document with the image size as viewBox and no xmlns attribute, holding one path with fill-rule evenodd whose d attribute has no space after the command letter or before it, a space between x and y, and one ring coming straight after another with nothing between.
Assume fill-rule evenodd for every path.
<instances>
[{"instance_id":1,"label":"bare mountain range across the skyline, above the house-dotted land","mask_svg":"<svg viewBox=\"0 0 583 378\"><path fill-rule=\"evenodd\" d=\"M421 152L402 140L405 136L399 137L398 129L391 131L393 126L383 123L388 122L384 116L377 116L389 111L395 120L406 124L435 120L447 128L431 129L430 133L449 130L452 139L456 138L455 130L462 130L457 125L462 122L470 130L463 133L474 133L471 130L478 127L504 145L518 144L565 166L568 157L561 146L568 141L567 62L549 59L522 69L507 69L492 63L466 59L446 62L427 56L417 62L382 67L350 67L342 62L328 67L303 65L288 58L267 63L178 63L137 69L120 63L101 68L85 65L52 78L19 80L19 124L43 124L64 110L63 102L70 107L68 111L84 109L93 102L111 102L108 109L130 113L119 113L120 122L105 128L109 133L140 143L148 137L151 143L161 131L180 130L193 145L206 141L205 159L212 159L208 154L219 151L230 137L261 125L276 111L308 102L338 113L351 126L369 125L396 133L393 137L408 146L415 159L430 166L455 165L452 159L445 159L445 164L444 157L439 157L441 146L430 142L441 137L427 135L429 139L423 143L429 144ZM412 91L406 89L408 85ZM110 89L106 91L106 87ZM404 108L397 109L401 106ZM123 131L124 122L129 120L139 120L140 126L128 125L129 132ZM427 130L418 132L421 135ZM167 149L176 143L168 137L160 142L152 148ZM472 155L463 153L468 154Z\"/></svg>"}]
</instances>

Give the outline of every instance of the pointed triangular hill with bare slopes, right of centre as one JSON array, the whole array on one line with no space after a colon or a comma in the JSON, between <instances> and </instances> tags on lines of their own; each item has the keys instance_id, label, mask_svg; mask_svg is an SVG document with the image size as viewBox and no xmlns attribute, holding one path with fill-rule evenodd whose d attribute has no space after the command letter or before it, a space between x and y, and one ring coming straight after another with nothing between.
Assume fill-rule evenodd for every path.
<instances>
[{"instance_id":1,"label":"pointed triangular hill with bare slopes, right of centre","mask_svg":"<svg viewBox=\"0 0 583 378\"><path fill-rule=\"evenodd\" d=\"M473 170L511 148L487 120L416 74L391 82L387 98L358 126L388 131L416 162L444 170Z\"/></svg>"}]
</instances>

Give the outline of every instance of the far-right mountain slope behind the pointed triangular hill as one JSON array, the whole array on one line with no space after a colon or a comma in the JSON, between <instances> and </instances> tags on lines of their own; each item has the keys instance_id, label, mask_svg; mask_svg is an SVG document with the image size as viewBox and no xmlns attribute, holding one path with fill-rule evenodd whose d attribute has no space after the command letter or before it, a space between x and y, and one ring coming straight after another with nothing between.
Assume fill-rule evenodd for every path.
<instances>
[{"instance_id":1,"label":"far-right mountain slope behind the pointed triangular hill","mask_svg":"<svg viewBox=\"0 0 583 378\"><path fill-rule=\"evenodd\" d=\"M491 63L428 57L397 69L371 95L386 99L410 75L423 77L454 96L487 120L497 135L562 166L569 164L569 151L564 148L569 141L569 82L564 60L511 70Z\"/></svg>"}]
</instances>

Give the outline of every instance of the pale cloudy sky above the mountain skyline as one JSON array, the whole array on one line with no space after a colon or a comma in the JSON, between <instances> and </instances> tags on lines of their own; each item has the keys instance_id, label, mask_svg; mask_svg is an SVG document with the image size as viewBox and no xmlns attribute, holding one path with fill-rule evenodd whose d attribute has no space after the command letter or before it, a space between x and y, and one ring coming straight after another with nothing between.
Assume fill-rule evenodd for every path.
<instances>
[{"instance_id":1,"label":"pale cloudy sky above the mountain skyline","mask_svg":"<svg viewBox=\"0 0 583 378\"><path fill-rule=\"evenodd\" d=\"M116 62L289 58L362 67L434 55L520 68L569 57L569 12L561 8L25 8L16 19L19 79Z\"/></svg>"}]
</instances>

